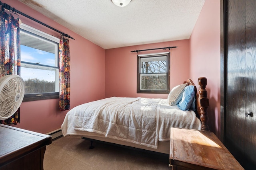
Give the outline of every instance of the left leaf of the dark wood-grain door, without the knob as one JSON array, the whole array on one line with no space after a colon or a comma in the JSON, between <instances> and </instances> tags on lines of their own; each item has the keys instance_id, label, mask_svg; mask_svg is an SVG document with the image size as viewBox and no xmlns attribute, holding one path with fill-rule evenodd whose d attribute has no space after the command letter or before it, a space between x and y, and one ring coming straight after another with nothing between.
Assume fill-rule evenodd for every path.
<instances>
[{"instance_id":1,"label":"left leaf of the dark wood-grain door, without the knob","mask_svg":"<svg viewBox=\"0 0 256 170\"><path fill-rule=\"evenodd\" d=\"M227 87L225 145L243 164L245 120L245 1L226 1Z\"/></svg>"}]
</instances>

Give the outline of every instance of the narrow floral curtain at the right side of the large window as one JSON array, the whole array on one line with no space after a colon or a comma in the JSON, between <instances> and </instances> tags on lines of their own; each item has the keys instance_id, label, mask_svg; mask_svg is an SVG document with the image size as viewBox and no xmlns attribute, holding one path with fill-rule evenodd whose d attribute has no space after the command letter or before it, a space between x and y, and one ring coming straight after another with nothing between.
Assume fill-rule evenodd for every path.
<instances>
[{"instance_id":1,"label":"narrow floral curtain at the right side of the large window","mask_svg":"<svg viewBox=\"0 0 256 170\"><path fill-rule=\"evenodd\" d=\"M60 65L60 111L70 109L70 53L69 39L60 37L59 46Z\"/></svg>"}]
</instances>

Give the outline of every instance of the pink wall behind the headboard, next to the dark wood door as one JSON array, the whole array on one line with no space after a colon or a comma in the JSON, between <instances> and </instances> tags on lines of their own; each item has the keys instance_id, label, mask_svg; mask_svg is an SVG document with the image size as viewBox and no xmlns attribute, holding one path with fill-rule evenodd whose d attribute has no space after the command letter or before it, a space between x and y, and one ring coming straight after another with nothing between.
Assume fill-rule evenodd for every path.
<instances>
[{"instance_id":1,"label":"pink wall behind the headboard, next to the dark wood door","mask_svg":"<svg viewBox=\"0 0 256 170\"><path fill-rule=\"evenodd\" d=\"M190 77L206 77L209 126L220 137L220 1L206 0L190 37Z\"/></svg>"}]
</instances>

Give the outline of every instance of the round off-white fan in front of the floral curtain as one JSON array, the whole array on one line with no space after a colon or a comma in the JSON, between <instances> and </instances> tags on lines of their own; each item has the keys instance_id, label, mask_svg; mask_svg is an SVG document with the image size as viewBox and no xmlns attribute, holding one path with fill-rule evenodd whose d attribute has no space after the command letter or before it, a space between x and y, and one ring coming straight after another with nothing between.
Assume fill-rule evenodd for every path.
<instances>
[{"instance_id":1,"label":"round off-white fan in front of the floral curtain","mask_svg":"<svg viewBox=\"0 0 256 170\"><path fill-rule=\"evenodd\" d=\"M0 78L0 120L8 119L18 110L24 92L21 76L10 74Z\"/></svg>"}]
</instances>

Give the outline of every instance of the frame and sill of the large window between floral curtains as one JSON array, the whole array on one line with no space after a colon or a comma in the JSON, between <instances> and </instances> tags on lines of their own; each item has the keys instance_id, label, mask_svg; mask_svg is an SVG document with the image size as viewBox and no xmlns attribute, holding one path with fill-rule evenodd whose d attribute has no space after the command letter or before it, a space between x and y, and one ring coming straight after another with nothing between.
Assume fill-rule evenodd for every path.
<instances>
[{"instance_id":1,"label":"frame and sill of the large window between floral curtains","mask_svg":"<svg viewBox=\"0 0 256 170\"><path fill-rule=\"evenodd\" d=\"M24 23L22 23L20 25L20 31L23 31L24 33L31 33L32 35L35 35L35 36L39 36L41 37L42 39L47 39L47 40L50 40L50 41L53 41L57 44L59 44L60 42L60 39L57 38L57 37L54 37L52 35L49 35L47 33L44 33L36 28L33 28L33 27L30 27L29 25L26 25ZM57 49L56 49L56 54L58 55L58 49L59 45L57 45ZM59 70L59 61L58 61L58 57L56 57L57 61L55 61L56 65L57 66L48 66L48 67L52 67L52 68L55 68L55 69L58 69ZM26 64L29 64L29 65L34 65L34 67L44 67L45 65L43 64L40 64L40 65L36 65L36 64L33 64L33 63L29 63L29 62L25 62L25 61L22 61L21 59L21 66L22 65L26 65ZM22 66L24 67L24 66ZM59 72L56 73L56 75L59 74ZM58 75L59 76L59 75ZM58 81L59 78L57 78L57 82L56 82L56 86L58 86L58 91L60 91L60 84L59 84L59 81ZM25 94L24 95L24 98L23 98L23 101L22 102L30 102L30 101L36 101L36 100L47 100L47 99L56 99L56 98L59 98L60 96L60 92L50 92L50 93L33 93L33 94Z\"/></svg>"}]
</instances>

